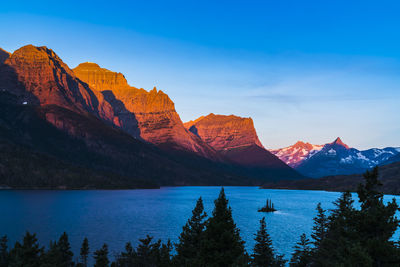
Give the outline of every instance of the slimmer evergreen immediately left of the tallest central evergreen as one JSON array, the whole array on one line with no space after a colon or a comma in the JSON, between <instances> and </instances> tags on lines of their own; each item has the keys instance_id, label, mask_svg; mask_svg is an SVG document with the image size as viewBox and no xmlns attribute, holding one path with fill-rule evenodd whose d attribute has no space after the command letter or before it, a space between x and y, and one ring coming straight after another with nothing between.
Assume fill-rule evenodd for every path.
<instances>
[{"instance_id":1,"label":"slimmer evergreen immediately left of the tallest central evergreen","mask_svg":"<svg viewBox=\"0 0 400 267\"><path fill-rule=\"evenodd\" d=\"M196 206L192 211L192 217L183 226L179 236L179 243L175 245L176 256L174 262L180 266L198 266L200 264L200 244L205 228L205 218L203 200L197 200Z\"/></svg>"}]
</instances>

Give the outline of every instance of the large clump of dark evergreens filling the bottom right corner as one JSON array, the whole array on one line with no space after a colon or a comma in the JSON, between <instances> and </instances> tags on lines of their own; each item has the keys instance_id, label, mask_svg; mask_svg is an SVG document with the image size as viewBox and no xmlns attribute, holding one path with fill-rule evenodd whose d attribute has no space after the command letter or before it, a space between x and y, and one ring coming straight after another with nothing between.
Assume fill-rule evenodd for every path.
<instances>
[{"instance_id":1,"label":"large clump of dark evergreens filling the bottom right corner","mask_svg":"<svg viewBox=\"0 0 400 267\"><path fill-rule=\"evenodd\" d=\"M334 203L328 218L327 234L316 243L313 263L319 266L398 266L399 248L391 241L399 221L393 200L383 203L377 168L364 174L358 197L361 209L345 192ZM317 216L318 217L318 216Z\"/></svg>"}]
</instances>

